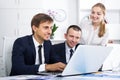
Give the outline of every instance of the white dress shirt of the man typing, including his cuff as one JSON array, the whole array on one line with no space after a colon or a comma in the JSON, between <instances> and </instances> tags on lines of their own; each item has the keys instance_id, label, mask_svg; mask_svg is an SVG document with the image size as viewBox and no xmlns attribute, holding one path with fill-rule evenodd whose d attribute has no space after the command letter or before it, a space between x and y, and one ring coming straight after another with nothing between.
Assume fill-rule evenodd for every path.
<instances>
[{"instance_id":1,"label":"white dress shirt of the man typing, including his cuff","mask_svg":"<svg viewBox=\"0 0 120 80\"><path fill-rule=\"evenodd\" d=\"M39 44L35 38L33 37L33 43L35 45L35 50L36 50L36 59L35 59L35 64L38 65L39 64L39 55L38 55L38 49L39 49L39 45L42 45L42 48L41 48L41 52L42 52L42 64L39 66L39 69L38 71L41 72L41 71L45 71L45 64L44 64L44 61L45 61L45 57L44 57L44 46L43 44Z\"/></svg>"}]
</instances>

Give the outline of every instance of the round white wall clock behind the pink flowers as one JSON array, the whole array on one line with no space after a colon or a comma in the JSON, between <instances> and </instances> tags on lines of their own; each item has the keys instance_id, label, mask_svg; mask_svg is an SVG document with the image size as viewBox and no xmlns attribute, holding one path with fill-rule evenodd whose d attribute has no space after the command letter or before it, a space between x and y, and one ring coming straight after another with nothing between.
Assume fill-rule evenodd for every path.
<instances>
[{"instance_id":1,"label":"round white wall clock behind the pink flowers","mask_svg":"<svg viewBox=\"0 0 120 80\"><path fill-rule=\"evenodd\" d=\"M66 12L62 9L58 9L55 11L56 14L54 15L54 19L56 21L62 22L66 19Z\"/></svg>"}]
</instances>

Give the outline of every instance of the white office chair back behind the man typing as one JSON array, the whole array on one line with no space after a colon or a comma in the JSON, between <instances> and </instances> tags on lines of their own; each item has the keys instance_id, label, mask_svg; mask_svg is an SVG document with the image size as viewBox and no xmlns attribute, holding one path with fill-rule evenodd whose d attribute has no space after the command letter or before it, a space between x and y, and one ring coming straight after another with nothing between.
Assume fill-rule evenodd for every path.
<instances>
[{"instance_id":1,"label":"white office chair back behind the man typing","mask_svg":"<svg viewBox=\"0 0 120 80\"><path fill-rule=\"evenodd\" d=\"M13 43L17 37L4 37L3 41L3 64L5 68L5 76L9 76L11 72L11 57L12 57L12 47Z\"/></svg>"}]
</instances>

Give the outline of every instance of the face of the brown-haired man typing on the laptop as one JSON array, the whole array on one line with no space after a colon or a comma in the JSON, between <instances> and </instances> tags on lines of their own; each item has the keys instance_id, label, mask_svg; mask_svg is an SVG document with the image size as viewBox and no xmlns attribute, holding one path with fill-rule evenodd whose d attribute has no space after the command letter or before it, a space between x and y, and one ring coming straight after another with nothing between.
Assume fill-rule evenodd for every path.
<instances>
[{"instance_id":1,"label":"face of the brown-haired man typing on the laptop","mask_svg":"<svg viewBox=\"0 0 120 80\"><path fill-rule=\"evenodd\" d=\"M50 38L52 25L52 22L44 22L40 23L39 27L33 26L34 36L38 42L42 43L44 40L48 40Z\"/></svg>"}]
</instances>

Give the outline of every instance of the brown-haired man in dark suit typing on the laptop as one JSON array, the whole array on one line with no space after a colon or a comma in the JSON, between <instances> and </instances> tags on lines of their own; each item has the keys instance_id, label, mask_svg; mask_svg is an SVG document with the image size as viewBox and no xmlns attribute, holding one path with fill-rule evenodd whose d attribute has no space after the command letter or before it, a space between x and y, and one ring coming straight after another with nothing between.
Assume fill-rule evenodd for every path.
<instances>
[{"instance_id":1,"label":"brown-haired man in dark suit typing on the laptop","mask_svg":"<svg viewBox=\"0 0 120 80\"><path fill-rule=\"evenodd\" d=\"M53 19L43 13L36 14L31 21L32 35L18 38L12 50L10 75L37 74L41 71L62 71L65 64L49 63ZM40 48L38 46L41 46Z\"/></svg>"}]
</instances>

